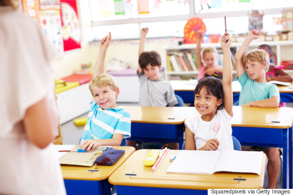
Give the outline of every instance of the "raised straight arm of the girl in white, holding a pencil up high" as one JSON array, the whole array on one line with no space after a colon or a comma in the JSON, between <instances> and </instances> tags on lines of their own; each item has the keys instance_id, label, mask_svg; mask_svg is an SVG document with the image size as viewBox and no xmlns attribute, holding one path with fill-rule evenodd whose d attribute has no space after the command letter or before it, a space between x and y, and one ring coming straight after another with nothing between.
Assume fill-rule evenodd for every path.
<instances>
[{"instance_id":1,"label":"raised straight arm of the girl in white, holding a pencil up high","mask_svg":"<svg viewBox=\"0 0 293 195\"><path fill-rule=\"evenodd\" d=\"M221 38L223 50L223 92L225 100L225 110L232 116L233 92L232 92L232 63L231 63L231 46L232 40L230 34L225 32Z\"/></svg>"}]
</instances>

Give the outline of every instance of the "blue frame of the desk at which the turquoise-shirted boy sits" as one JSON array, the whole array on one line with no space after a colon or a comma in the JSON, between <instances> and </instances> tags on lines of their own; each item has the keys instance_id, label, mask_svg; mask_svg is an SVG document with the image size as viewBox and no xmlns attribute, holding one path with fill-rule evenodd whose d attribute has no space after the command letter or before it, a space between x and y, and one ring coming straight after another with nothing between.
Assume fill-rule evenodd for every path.
<instances>
[{"instance_id":1,"label":"blue frame of the desk at which the turquoise-shirted boy sits","mask_svg":"<svg viewBox=\"0 0 293 195\"><path fill-rule=\"evenodd\" d=\"M232 135L244 146L283 148L283 188L287 188L287 160L289 159L289 188L292 188L292 127L287 129L233 127ZM289 157L287 148L289 147Z\"/></svg>"}]
</instances>

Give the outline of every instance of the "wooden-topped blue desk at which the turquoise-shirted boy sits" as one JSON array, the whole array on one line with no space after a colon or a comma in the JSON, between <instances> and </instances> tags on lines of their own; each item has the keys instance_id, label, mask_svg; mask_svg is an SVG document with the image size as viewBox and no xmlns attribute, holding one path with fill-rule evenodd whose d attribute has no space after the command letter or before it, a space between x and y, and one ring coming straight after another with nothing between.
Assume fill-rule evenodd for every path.
<instances>
[{"instance_id":1,"label":"wooden-topped blue desk at which the turquoise-shirted boy sits","mask_svg":"<svg viewBox=\"0 0 293 195\"><path fill-rule=\"evenodd\" d=\"M289 159L289 188L292 188L292 123L293 108L260 108L233 106L232 134L243 146L283 148L283 188L287 188ZM287 148L289 147L289 150ZM289 151L289 152L288 152ZM288 154L289 153L289 158Z\"/></svg>"}]
</instances>

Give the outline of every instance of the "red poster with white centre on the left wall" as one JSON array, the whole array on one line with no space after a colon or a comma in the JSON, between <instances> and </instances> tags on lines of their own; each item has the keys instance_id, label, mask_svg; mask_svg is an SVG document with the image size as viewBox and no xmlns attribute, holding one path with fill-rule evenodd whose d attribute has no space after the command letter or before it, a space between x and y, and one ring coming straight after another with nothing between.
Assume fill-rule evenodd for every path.
<instances>
[{"instance_id":1,"label":"red poster with white centre on the left wall","mask_svg":"<svg viewBox=\"0 0 293 195\"><path fill-rule=\"evenodd\" d=\"M81 48L81 30L76 0L61 0L64 51Z\"/></svg>"}]
</instances>

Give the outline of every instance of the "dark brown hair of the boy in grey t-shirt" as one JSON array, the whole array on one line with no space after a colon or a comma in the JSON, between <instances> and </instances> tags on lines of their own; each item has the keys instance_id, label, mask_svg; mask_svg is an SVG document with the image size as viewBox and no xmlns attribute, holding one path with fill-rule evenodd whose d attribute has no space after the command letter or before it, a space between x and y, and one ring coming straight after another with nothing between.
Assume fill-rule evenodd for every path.
<instances>
[{"instance_id":1,"label":"dark brown hair of the boy in grey t-shirt","mask_svg":"<svg viewBox=\"0 0 293 195\"><path fill-rule=\"evenodd\" d=\"M160 66L162 64L161 56L156 51L145 51L139 56L138 64L142 70L147 68L149 64Z\"/></svg>"}]
</instances>

